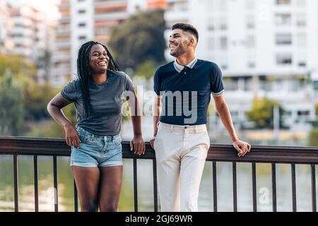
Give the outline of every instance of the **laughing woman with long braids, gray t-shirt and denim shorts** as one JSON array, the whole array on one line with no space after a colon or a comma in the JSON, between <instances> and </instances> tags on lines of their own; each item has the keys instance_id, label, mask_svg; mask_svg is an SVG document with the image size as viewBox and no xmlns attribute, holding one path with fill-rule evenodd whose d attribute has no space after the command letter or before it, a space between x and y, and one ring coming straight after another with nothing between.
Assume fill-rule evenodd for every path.
<instances>
[{"instance_id":1,"label":"laughing woman with long braids, gray t-shirt and denim shorts","mask_svg":"<svg viewBox=\"0 0 318 226\"><path fill-rule=\"evenodd\" d=\"M141 155L145 144L141 116L133 84L119 70L105 45L86 42L78 51L78 78L69 82L47 105L51 117L60 124L71 146L71 168L82 211L117 211L122 186L123 93L129 93L134 138L131 150ZM126 97L126 100L129 100ZM62 108L75 104L77 126L65 117ZM133 103L133 104L131 104Z\"/></svg>"}]
</instances>

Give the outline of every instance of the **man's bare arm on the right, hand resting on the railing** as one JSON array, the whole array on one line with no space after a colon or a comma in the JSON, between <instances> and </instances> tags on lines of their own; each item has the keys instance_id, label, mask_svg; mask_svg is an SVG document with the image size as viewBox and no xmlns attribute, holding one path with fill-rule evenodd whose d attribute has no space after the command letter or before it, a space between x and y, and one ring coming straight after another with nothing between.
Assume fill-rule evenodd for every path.
<instances>
[{"instance_id":1,"label":"man's bare arm on the right, hand resting on the railing","mask_svg":"<svg viewBox=\"0 0 318 226\"><path fill-rule=\"evenodd\" d=\"M217 97L213 96L213 99L216 104L216 111L218 112L225 129L230 135L232 145L239 152L237 155L239 157L244 156L251 149L251 145L245 141L240 141L240 139L237 138L230 110L228 109L228 104L225 101L224 95L219 95Z\"/></svg>"}]
</instances>

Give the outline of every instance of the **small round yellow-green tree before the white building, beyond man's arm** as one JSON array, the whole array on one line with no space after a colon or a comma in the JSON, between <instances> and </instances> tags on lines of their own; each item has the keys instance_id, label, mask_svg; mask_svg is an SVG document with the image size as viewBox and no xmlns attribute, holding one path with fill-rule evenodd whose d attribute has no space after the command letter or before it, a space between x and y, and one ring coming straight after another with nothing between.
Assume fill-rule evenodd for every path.
<instances>
[{"instance_id":1,"label":"small round yellow-green tree before the white building, beyond man's arm","mask_svg":"<svg viewBox=\"0 0 318 226\"><path fill-rule=\"evenodd\" d=\"M273 128L273 108L279 107L280 115L283 114L283 108L274 100L254 99L252 103L252 109L247 112L247 119L254 121L257 128L269 129Z\"/></svg>"}]
</instances>

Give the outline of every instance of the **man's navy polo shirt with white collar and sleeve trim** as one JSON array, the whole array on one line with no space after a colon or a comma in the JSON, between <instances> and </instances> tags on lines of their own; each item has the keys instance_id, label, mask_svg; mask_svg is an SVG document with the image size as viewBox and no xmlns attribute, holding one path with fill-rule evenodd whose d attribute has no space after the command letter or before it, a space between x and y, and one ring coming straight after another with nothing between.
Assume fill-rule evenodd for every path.
<instances>
[{"instance_id":1,"label":"man's navy polo shirt with white collar and sleeve trim","mask_svg":"<svg viewBox=\"0 0 318 226\"><path fill-rule=\"evenodd\" d=\"M158 67L153 87L157 95L163 96L160 121L175 125L206 124L211 93L218 96L224 92L220 68L201 59L187 66L172 61Z\"/></svg>"}]
</instances>

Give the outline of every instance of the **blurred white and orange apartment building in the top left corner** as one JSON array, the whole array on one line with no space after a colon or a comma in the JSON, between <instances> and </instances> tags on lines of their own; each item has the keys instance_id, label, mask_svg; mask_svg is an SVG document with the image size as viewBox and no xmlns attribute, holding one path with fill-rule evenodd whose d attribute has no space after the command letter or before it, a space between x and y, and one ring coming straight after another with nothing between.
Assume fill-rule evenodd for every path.
<instances>
[{"instance_id":1,"label":"blurred white and orange apartment building in the top left corner","mask_svg":"<svg viewBox=\"0 0 318 226\"><path fill-rule=\"evenodd\" d=\"M0 51L20 55L36 64L38 81L49 76L50 65L42 59L45 52L54 48L53 31L54 23L32 3L0 1Z\"/></svg>"}]
</instances>

